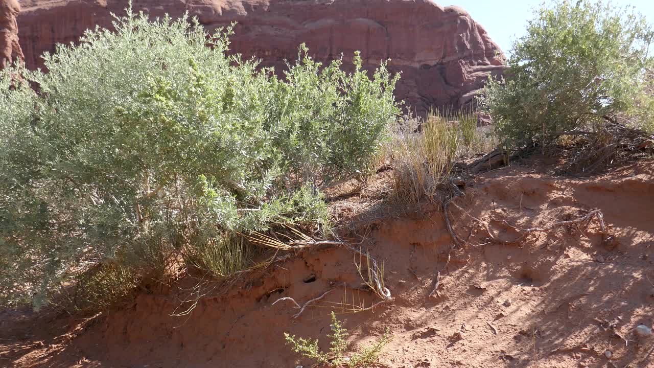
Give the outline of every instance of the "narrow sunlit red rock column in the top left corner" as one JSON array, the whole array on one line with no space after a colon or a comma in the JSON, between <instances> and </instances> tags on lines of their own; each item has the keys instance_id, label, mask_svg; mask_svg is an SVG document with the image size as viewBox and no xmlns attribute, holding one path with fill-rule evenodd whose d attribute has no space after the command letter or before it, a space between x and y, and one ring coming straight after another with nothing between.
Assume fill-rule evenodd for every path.
<instances>
[{"instance_id":1,"label":"narrow sunlit red rock column in the top left corner","mask_svg":"<svg viewBox=\"0 0 654 368\"><path fill-rule=\"evenodd\" d=\"M16 23L19 12L18 1L0 0L0 69L23 59Z\"/></svg>"}]
</instances>

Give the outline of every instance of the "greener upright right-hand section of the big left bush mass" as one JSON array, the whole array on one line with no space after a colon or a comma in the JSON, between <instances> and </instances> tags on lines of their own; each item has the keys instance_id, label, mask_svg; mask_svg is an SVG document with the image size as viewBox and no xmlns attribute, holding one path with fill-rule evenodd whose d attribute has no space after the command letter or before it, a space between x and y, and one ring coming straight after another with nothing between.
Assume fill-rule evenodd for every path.
<instances>
[{"instance_id":1,"label":"greener upright right-hand section of the big left bush mass","mask_svg":"<svg viewBox=\"0 0 654 368\"><path fill-rule=\"evenodd\" d=\"M392 100L397 79L385 64L369 79L359 52L354 73L347 75L341 60L322 67L307 51L300 46L285 81L273 80L273 144L281 147L283 169L293 173L287 179L332 185L370 167L389 117L399 112L392 103L379 103Z\"/></svg>"}]
</instances>

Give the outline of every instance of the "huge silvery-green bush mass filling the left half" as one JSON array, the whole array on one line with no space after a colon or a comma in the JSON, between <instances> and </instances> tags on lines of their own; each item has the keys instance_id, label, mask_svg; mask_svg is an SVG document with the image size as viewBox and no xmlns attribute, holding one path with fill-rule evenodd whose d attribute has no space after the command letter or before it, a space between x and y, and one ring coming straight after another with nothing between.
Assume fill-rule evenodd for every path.
<instances>
[{"instance_id":1,"label":"huge silvery-green bush mass filling the left half","mask_svg":"<svg viewBox=\"0 0 654 368\"><path fill-rule=\"evenodd\" d=\"M44 55L48 73L0 72L3 304L41 306L86 272L80 285L102 285L98 269L143 278L180 255L230 274L250 254L231 256L236 234L324 234L320 188L363 172L398 115L398 77L382 64L370 79L358 54L347 74L302 46L278 80L226 55L230 29L116 19Z\"/></svg>"}]
</instances>

